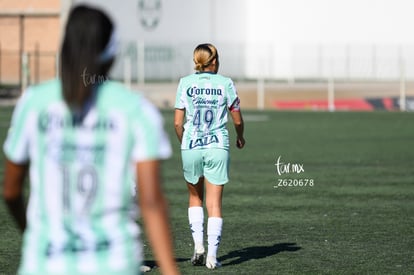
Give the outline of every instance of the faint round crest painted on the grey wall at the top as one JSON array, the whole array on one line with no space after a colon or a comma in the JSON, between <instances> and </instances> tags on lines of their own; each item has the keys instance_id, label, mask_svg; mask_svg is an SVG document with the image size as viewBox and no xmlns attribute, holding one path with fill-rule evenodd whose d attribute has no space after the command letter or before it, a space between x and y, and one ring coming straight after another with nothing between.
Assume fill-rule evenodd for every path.
<instances>
[{"instance_id":1,"label":"faint round crest painted on the grey wall at the top","mask_svg":"<svg viewBox=\"0 0 414 275\"><path fill-rule=\"evenodd\" d=\"M139 21L144 29L155 29L161 17L161 0L139 0L138 12L140 15Z\"/></svg>"}]
</instances>

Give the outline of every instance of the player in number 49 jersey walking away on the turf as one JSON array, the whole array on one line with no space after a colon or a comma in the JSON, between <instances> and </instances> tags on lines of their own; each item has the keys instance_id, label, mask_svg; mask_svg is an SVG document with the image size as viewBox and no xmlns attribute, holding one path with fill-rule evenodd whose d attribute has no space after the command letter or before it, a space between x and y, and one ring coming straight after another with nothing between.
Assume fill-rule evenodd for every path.
<instances>
[{"instance_id":1,"label":"player in number 49 jersey walking away on the turf","mask_svg":"<svg viewBox=\"0 0 414 275\"><path fill-rule=\"evenodd\" d=\"M208 212L206 266L220 267L217 249L223 225L221 200L228 182L227 115L233 119L238 148L243 148L243 119L233 81L217 74L219 56L211 44L194 50L195 74L181 78L175 103L175 131L181 143L184 178L189 191L188 218L194 240L193 265L204 264L204 187ZM185 123L184 123L185 122Z\"/></svg>"}]
</instances>

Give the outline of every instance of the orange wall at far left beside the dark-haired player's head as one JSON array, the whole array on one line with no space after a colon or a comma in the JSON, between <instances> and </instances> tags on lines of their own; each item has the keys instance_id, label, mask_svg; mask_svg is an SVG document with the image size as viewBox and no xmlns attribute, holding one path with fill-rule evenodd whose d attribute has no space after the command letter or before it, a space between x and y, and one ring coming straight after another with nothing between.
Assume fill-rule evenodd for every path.
<instances>
[{"instance_id":1,"label":"orange wall at far left beside the dark-haired player's head","mask_svg":"<svg viewBox=\"0 0 414 275\"><path fill-rule=\"evenodd\" d=\"M35 83L56 75L60 14L58 0L0 1L0 83L18 84L23 77Z\"/></svg>"}]
</instances>

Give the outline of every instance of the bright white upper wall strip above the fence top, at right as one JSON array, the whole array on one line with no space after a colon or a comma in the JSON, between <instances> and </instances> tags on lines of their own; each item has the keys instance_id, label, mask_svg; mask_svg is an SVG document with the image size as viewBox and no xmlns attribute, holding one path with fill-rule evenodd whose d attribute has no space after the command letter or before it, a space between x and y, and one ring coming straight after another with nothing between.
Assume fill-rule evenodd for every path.
<instances>
[{"instance_id":1,"label":"bright white upper wall strip above the fence top, at right","mask_svg":"<svg viewBox=\"0 0 414 275\"><path fill-rule=\"evenodd\" d=\"M412 0L246 0L247 41L413 43ZM271 35L269 35L271 34Z\"/></svg>"}]
</instances>

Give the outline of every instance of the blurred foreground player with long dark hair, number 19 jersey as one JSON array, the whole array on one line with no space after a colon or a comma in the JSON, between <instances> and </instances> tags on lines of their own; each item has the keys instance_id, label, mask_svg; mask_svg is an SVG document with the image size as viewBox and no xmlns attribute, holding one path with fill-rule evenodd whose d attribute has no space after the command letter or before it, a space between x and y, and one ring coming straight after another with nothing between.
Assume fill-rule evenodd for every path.
<instances>
[{"instance_id":1,"label":"blurred foreground player with long dark hair, number 19 jersey","mask_svg":"<svg viewBox=\"0 0 414 275\"><path fill-rule=\"evenodd\" d=\"M30 87L15 108L4 144L3 196L24 231L19 274L139 274L134 176L161 272L178 274L160 187L160 160L171 146L158 110L107 80L115 53L108 16L75 7L61 49L61 80Z\"/></svg>"}]
</instances>

